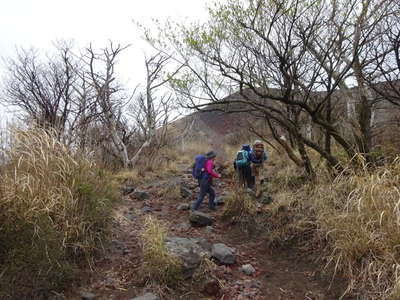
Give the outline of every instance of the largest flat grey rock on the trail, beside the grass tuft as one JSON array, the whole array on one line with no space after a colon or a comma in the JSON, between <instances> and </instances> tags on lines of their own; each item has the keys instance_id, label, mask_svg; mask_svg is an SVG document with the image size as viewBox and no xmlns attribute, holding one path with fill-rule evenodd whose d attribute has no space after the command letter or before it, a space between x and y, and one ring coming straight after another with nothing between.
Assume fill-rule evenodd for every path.
<instances>
[{"instance_id":1,"label":"largest flat grey rock on the trail, beside the grass tuft","mask_svg":"<svg viewBox=\"0 0 400 300\"><path fill-rule=\"evenodd\" d=\"M192 277L203 257L211 257L211 244L202 238L168 237L166 247L182 263L184 278Z\"/></svg>"}]
</instances>

